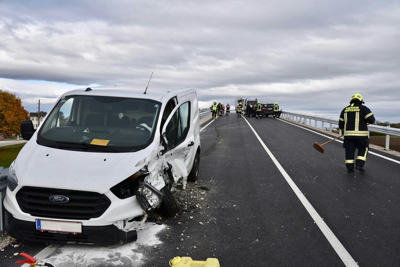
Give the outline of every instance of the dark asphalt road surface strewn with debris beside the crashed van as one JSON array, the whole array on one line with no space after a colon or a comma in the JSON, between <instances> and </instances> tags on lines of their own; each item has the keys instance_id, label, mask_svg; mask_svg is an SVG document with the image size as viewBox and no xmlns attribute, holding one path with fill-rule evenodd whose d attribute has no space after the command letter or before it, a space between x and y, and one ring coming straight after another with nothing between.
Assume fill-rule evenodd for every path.
<instances>
[{"instance_id":1,"label":"dark asphalt road surface strewn with debris beside the crashed van","mask_svg":"<svg viewBox=\"0 0 400 267\"><path fill-rule=\"evenodd\" d=\"M324 143L326 137L270 117L248 122L358 266L400 266L400 164L371 154L367 173L348 174L341 143L326 145L320 154L312 144ZM119 257L125 266L168 266L174 256L190 256L216 257L221 266L346 266L244 118L219 116L200 137L199 181L176 194L182 206L194 206L198 212L160 220L153 216L151 221L162 225L150 223L150 232L139 231L136 243L141 244L145 234L158 240L131 249L140 253L141 261L135 263L137 255L131 253L125 259L126 246L80 246L74 251L77 246L68 245L49 256L51 263L115 266L119 261L111 259ZM211 190L202 191L200 185ZM21 244L31 255L45 247ZM65 253L68 248L70 255ZM9 246L0 253L1 266L16 266L11 264L16 257L9 258L15 250ZM92 251L105 251L110 259L93 265L82 261Z\"/></svg>"}]
</instances>

